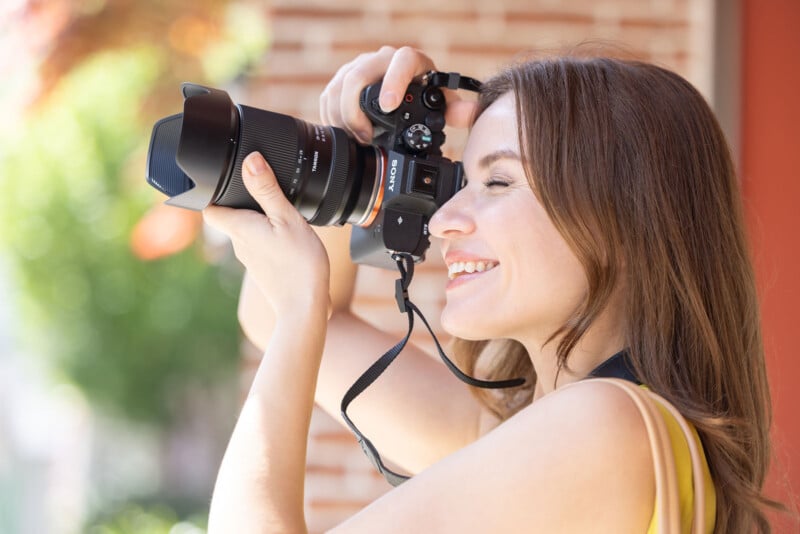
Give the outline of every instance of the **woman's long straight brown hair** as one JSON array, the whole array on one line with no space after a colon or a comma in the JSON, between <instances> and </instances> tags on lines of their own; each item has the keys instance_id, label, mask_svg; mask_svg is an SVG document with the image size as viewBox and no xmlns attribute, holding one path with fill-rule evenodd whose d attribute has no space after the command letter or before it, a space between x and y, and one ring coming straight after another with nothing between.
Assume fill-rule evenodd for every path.
<instances>
[{"instance_id":1,"label":"woman's long straight brown hair","mask_svg":"<svg viewBox=\"0 0 800 534\"><path fill-rule=\"evenodd\" d=\"M739 183L713 113L677 74L632 60L520 62L485 84L478 113L508 92L531 187L588 279L583 305L550 339L559 365L621 285L637 376L700 434L717 532L769 532L758 301ZM527 374L524 391L481 394L499 416L531 401L536 377L520 344L455 345L468 371Z\"/></svg>"}]
</instances>

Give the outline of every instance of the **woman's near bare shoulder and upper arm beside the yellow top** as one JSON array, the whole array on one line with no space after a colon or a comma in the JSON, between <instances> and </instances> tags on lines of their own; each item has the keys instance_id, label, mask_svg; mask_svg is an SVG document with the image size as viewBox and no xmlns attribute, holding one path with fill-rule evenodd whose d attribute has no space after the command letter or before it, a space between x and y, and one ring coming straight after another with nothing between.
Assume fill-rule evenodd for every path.
<instances>
[{"instance_id":1,"label":"woman's near bare shoulder and upper arm beside the yellow top","mask_svg":"<svg viewBox=\"0 0 800 534\"><path fill-rule=\"evenodd\" d=\"M342 531L644 532L654 501L638 409L615 386L586 381L539 399Z\"/></svg>"}]
</instances>

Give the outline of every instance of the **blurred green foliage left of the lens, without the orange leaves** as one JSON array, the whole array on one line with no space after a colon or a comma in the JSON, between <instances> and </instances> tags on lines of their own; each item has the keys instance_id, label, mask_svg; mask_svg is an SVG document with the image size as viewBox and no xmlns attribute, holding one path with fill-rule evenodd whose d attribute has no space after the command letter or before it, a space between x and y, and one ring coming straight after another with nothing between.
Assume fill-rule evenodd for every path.
<instances>
[{"instance_id":1,"label":"blurred green foliage left of the lens, without the orange leaves","mask_svg":"<svg viewBox=\"0 0 800 534\"><path fill-rule=\"evenodd\" d=\"M239 47L231 32L207 48L224 65L199 81L221 83L260 54L265 32L251 30ZM23 299L23 339L96 406L157 423L175 415L184 385L230 379L239 352L235 268L207 264L198 245L143 262L128 244L159 201L144 165L153 113L165 107L152 97L172 82L167 54L142 45L92 55L0 139L0 247ZM177 83L173 94L171 112Z\"/></svg>"}]
</instances>

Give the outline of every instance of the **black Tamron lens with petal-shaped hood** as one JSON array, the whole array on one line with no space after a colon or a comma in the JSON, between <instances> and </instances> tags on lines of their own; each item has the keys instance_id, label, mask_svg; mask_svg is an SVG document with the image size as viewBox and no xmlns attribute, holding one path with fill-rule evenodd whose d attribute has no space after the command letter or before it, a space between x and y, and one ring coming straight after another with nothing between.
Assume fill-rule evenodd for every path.
<instances>
[{"instance_id":1,"label":"black Tamron lens with petal-shaped hood","mask_svg":"<svg viewBox=\"0 0 800 534\"><path fill-rule=\"evenodd\" d=\"M244 158L258 151L310 224L372 222L382 197L380 149L340 128L236 106L224 91L193 84L183 91L184 113L156 124L147 160L147 181L171 197L168 204L260 211L242 182Z\"/></svg>"}]
</instances>

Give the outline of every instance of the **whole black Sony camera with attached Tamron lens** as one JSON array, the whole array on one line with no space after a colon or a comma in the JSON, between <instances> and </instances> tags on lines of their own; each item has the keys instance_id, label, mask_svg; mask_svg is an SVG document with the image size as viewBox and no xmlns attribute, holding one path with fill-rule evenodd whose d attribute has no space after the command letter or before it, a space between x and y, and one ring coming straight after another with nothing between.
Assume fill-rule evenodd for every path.
<instances>
[{"instance_id":1,"label":"whole black Sony camera with attached Tamron lens","mask_svg":"<svg viewBox=\"0 0 800 534\"><path fill-rule=\"evenodd\" d=\"M366 87L359 104L375 135L365 146L341 128L234 104L225 91L184 83L183 113L153 127L146 179L172 206L261 211L242 183L242 161L259 151L309 224L353 225L354 262L394 269L397 252L422 261L428 220L463 181L461 163L441 152L443 87L477 91L480 83L430 72L389 113L378 105L381 82Z\"/></svg>"}]
</instances>

